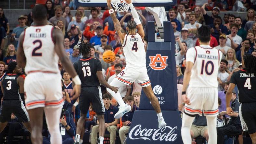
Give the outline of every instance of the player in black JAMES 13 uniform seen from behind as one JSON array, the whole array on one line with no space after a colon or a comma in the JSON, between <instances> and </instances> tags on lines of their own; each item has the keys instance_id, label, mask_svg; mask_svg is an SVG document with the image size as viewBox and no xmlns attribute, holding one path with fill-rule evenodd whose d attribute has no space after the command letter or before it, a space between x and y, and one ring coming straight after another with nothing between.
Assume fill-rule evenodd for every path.
<instances>
[{"instance_id":1,"label":"player in black JAMES 13 uniform seen from behind","mask_svg":"<svg viewBox=\"0 0 256 144\"><path fill-rule=\"evenodd\" d=\"M102 144L105 134L105 120L104 112L105 107L102 100L100 83L113 93L118 91L117 87L112 87L108 84L102 74L102 66L98 59L91 58L91 47L90 42L84 43L81 41L79 46L79 53L83 55L83 58L74 63L74 68L82 81L81 94L79 96L79 108L81 116L77 122L75 144L79 144L80 135L83 132L86 115L90 106L93 105L93 109L97 114L99 120L99 143ZM80 141L82 143L82 140Z\"/></svg>"}]
</instances>

